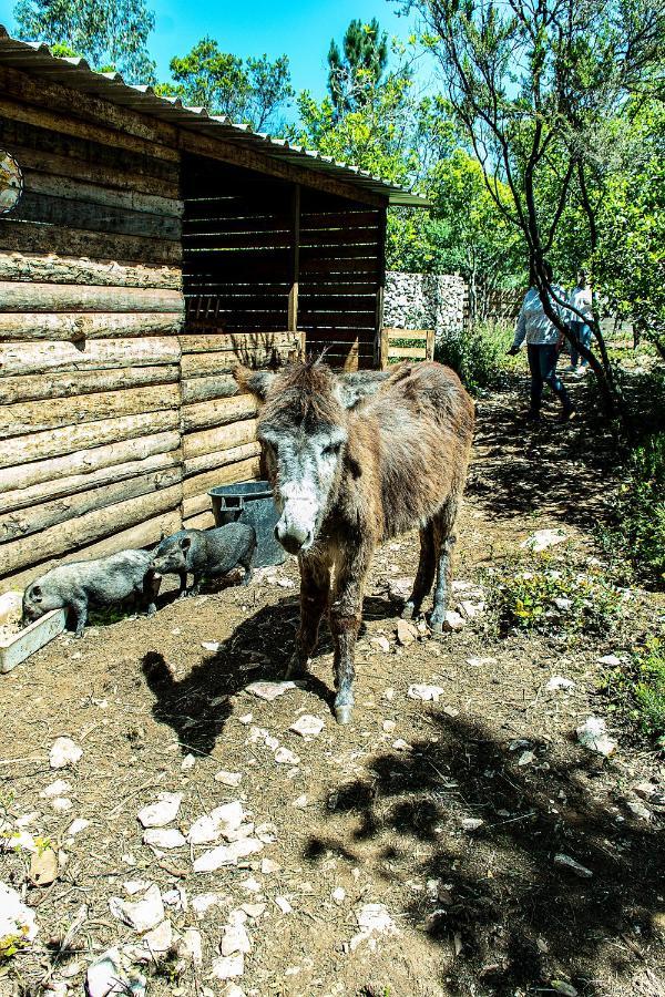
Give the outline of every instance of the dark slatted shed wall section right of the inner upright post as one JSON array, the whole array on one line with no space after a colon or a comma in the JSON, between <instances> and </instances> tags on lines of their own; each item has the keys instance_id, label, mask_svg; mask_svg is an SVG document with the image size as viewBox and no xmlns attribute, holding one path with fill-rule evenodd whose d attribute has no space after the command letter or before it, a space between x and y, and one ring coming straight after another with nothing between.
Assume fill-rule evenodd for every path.
<instances>
[{"instance_id":1,"label":"dark slatted shed wall section right of the inner upright post","mask_svg":"<svg viewBox=\"0 0 665 997\"><path fill-rule=\"evenodd\" d=\"M327 348L347 370L376 366L383 219L385 209L303 188L298 328L308 352Z\"/></svg>"}]
</instances>

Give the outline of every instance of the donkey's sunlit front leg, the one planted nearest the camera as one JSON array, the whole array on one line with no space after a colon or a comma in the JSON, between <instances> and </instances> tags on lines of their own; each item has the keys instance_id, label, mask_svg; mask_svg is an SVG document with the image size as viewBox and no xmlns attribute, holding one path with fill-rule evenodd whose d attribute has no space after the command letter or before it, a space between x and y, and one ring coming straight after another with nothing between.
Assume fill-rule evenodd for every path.
<instances>
[{"instance_id":1,"label":"donkey's sunlit front leg, the one planted nearest the camera","mask_svg":"<svg viewBox=\"0 0 665 997\"><path fill-rule=\"evenodd\" d=\"M335 716L338 723L348 723L354 708L356 639L362 619L362 586L368 566L365 561L336 566L339 576L330 606L330 631L335 641Z\"/></svg>"}]
</instances>

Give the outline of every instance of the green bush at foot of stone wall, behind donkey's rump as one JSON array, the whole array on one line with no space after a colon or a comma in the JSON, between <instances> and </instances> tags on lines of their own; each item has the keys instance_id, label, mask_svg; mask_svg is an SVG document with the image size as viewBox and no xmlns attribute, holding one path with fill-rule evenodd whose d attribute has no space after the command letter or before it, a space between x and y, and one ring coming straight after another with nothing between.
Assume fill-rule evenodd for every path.
<instances>
[{"instance_id":1,"label":"green bush at foot of stone wall, behind donkey's rump","mask_svg":"<svg viewBox=\"0 0 665 997\"><path fill-rule=\"evenodd\" d=\"M513 328L505 321L477 322L459 336L437 343L434 359L452 367L472 393L499 384L507 370L514 368L514 358L505 351L513 339Z\"/></svg>"}]
</instances>

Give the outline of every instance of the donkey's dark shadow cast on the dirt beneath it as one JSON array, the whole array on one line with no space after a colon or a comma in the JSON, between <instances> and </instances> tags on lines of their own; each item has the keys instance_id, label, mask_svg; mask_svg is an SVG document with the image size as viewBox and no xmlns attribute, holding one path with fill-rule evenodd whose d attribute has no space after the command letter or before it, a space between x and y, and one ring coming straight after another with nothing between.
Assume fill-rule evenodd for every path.
<instances>
[{"instance_id":1,"label":"donkey's dark shadow cast on the dirt beneath it","mask_svg":"<svg viewBox=\"0 0 665 997\"><path fill-rule=\"evenodd\" d=\"M375 597L366 599L366 607L372 619L377 614L393 617L396 611L395 604ZM295 647L299 614L298 599L293 596L264 606L243 620L213 655L203 657L182 679L174 678L160 651L150 650L144 655L141 667L154 696L153 717L175 731L183 754L190 751L211 754L232 716L233 697L252 682L284 678ZM362 625L360 637L365 629ZM332 641L324 619L314 661L331 651ZM331 672L326 681L310 672L298 678L297 685L317 696L332 712Z\"/></svg>"}]
</instances>

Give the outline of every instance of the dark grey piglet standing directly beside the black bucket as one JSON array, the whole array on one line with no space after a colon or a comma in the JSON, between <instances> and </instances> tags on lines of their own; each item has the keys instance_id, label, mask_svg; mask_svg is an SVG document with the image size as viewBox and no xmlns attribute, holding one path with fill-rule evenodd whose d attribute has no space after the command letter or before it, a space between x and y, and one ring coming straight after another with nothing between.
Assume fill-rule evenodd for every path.
<instances>
[{"instance_id":1,"label":"dark grey piglet standing directly beside the black bucket","mask_svg":"<svg viewBox=\"0 0 665 997\"><path fill-rule=\"evenodd\" d=\"M180 594L198 595L201 579L226 575L234 567L245 568L243 585L252 574L256 533L245 523L228 523L216 530L181 530L167 536L153 554L152 567L157 575L180 575ZM187 575L194 584L187 593Z\"/></svg>"}]
</instances>

